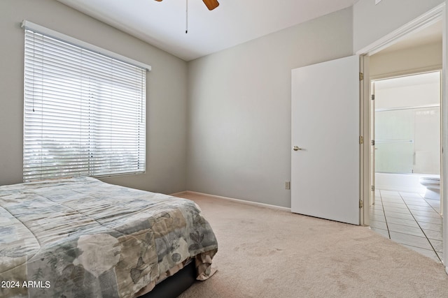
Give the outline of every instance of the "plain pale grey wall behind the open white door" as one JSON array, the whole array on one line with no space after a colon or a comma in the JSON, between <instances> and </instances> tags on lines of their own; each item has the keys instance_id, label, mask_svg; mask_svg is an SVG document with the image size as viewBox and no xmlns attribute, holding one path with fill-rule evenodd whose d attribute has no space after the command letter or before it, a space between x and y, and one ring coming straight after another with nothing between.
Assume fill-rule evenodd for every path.
<instances>
[{"instance_id":1,"label":"plain pale grey wall behind the open white door","mask_svg":"<svg viewBox=\"0 0 448 298\"><path fill-rule=\"evenodd\" d=\"M290 207L290 71L351 55L351 36L346 8L190 61L188 189Z\"/></svg>"}]
</instances>

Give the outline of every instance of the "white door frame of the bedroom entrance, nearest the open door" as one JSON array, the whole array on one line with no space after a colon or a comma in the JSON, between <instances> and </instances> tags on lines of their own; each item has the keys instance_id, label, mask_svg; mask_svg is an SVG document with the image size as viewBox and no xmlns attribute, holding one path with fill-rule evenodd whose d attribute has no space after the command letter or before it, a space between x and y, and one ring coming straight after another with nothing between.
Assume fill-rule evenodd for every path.
<instances>
[{"instance_id":1,"label":"white door frame of the bedroom entrance, nearest the open door","mask_svg":"<svg viewBox=\"0 0 448 298\"><path fill-rule=\"evenodd\" d=\"M375 41L374 43L368 45L367 47L356 52L360 56L361 59L361 71L367 70L365 72L364 77L366 80L363 81L361 86L363 87L360 91L361 97L361 110L360 110L360 130L364 134L364 140L368 140L364 142L367 146L363 146L361 149L361 158L360 158L360 167L361 167L361 181L360 181L360 192L362 198L364 198L364 204L366 202L370 202L371 195L374 195L374 191L370 191L370 179L372 175L372 167L370 165L370 154L372 154L372 146L370 146L371 134L370 134L370 113L371 105L370 105L370 79L368 79L368 66L369 66L369 56L375 54L381 50L384 50L386 47L392 45L393 43L398 42L401 38L406 36L408 33L412 31L417 31L424 27L429 26L435 22L442 20L442 100L441 100L441 112L442 112L442 131L441 135L444 135L444 132L448 132L448 98L447 98L447 90L448 90L448 81L447 81L447 9L445 3L436 6L432 10L429 10L427 13L424 13L420 17L408 22L404 26L388 33L383 38ZM363 70L364 68L364 70ZM442 137L442 148L448 148L448 137ZM448 154L443 153L442 149L442 163L441 163L441 173L442 177L440 179L440 195L442 197L442 214L443 216L443 253L444 255L448 255L448 204L447 204L447 185L448 185ZM367 184L368 181L368 184ZM370 208L367 208L365 204L365 208L363 210L363 225L369 225L370 223ZM445 271L448 273L448 262L444 262Z\"/></svg>"}]
</instances>

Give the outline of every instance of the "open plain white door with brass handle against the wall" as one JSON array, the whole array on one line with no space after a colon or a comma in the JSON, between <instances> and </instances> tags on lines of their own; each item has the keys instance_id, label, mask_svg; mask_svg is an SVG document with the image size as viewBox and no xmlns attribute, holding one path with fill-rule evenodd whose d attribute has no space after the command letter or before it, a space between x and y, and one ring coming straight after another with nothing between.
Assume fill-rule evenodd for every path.
<instances>
[{"instance_id":1,"label":"open plain white door with brass handle against the wall","mask_svg":"<svg viewBox=\"0 0 448 298\"><path fill-rule=\"evenodd\" d=\"M360 224L359 57L292 70L291 211Z\"/></svg>"}]
</instances>

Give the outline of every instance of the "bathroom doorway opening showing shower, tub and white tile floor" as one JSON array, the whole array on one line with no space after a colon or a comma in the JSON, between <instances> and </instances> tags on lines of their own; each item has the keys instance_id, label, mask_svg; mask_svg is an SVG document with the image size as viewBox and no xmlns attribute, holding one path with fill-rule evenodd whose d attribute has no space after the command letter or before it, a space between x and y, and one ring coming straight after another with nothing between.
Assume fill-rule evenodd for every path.
<instances>
[{"instance_id":1,"label":"bathroom doorway opening showing shower, tub and white tile floor","mask_svg":"<svg viewBox=\"0 0 448 298\"><path fill-rule=\"evenodd\" d=\"M440 70L372 80L371 90L370 228L441 262Z\"/></svg>"}]
</instances>

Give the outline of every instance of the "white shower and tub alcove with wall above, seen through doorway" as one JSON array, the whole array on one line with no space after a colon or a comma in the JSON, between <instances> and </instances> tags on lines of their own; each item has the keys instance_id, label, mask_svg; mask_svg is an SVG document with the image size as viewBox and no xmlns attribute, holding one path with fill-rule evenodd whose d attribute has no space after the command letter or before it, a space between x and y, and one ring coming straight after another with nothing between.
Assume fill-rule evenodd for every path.
<instances>
[{"instance_id":1,"label":"white shower and tub alcove with wall above, seen through doorway","mask_svg":"<svg viewBox=\"0 0 448 298\"><path fill-rule=\"evenodd\" d=\"M422 191L419 177L440 175L440 72L377 80L372 89L377 188Z\"/></svg>"}]
</instances>

